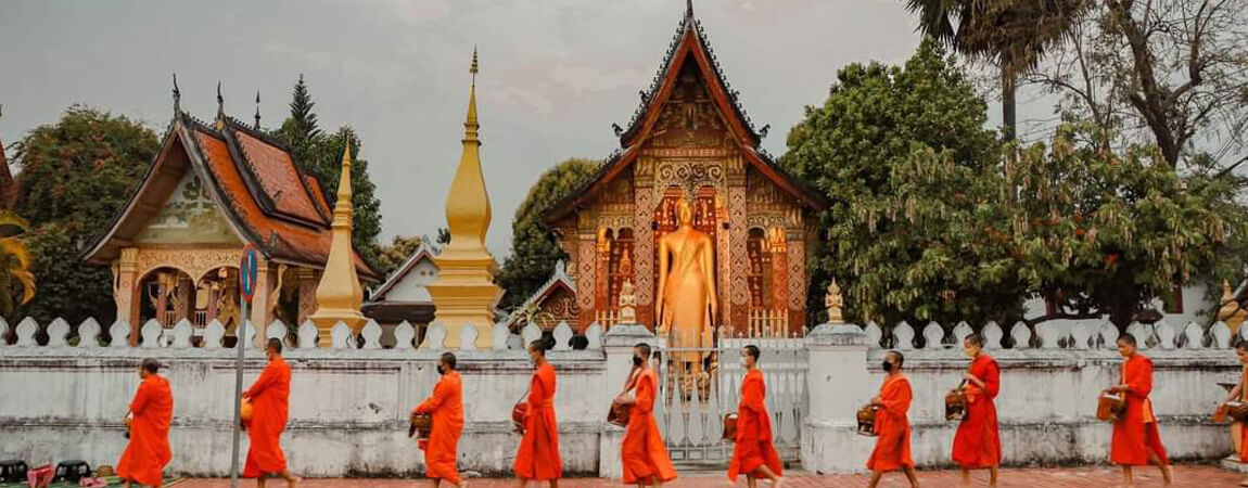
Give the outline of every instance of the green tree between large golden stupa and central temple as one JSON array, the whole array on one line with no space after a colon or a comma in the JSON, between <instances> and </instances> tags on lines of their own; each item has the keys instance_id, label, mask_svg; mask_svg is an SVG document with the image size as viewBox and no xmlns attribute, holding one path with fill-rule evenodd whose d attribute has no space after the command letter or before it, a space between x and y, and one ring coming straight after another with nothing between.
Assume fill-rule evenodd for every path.
<instances>
[{"instance_id":1,"label":"green tree between large golden stupa and central temple","mask_svg":"<svg viewBox=\"0 0 1248 488\"><path fill-rule=\"evenodd\" d=\"M507 291L500 308L510 310L524 303L550 278L555 262L567 258L550 228L542 222L542 212L577 191L598 171L598 166L599 161L567 160L542 173L529 188L512 220L512 255L495 278L498 286Z\"/></svg>"}]
</instances>

